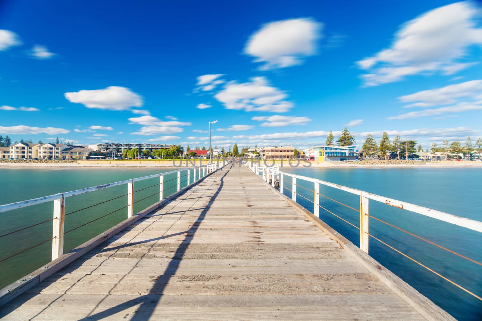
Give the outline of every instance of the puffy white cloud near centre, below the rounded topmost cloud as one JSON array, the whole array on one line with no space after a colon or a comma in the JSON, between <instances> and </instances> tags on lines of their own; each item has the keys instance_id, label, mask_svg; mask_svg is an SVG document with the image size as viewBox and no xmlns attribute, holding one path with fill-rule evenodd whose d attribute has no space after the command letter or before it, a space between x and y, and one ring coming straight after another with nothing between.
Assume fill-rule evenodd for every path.
<instances>
[{"instance_id":1,"label":"puffy white cloud near centre, below the rounded topmost cloud","mask_svg":"<svg viewBox=\"0 0 482 321\"><path fill-rule=\"evenodd\" d=\"M227 109L244 109L248 112L285 113L293 107L293 103L284 100L286 93L269 86L265 77L254 77L250 80L251 82L241 84L231 81L214 97Z\"/></svg>"}]
</instances>

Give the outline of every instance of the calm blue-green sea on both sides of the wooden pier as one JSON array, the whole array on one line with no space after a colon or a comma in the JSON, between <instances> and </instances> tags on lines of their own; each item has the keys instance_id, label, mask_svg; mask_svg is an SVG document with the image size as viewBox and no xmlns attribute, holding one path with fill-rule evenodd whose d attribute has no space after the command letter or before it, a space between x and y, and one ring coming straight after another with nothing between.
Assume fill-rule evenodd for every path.
<instances>
[{"instance_id":1,"label":"calm blue-green sea on both sides of the wooden pier","mask_svg":"<svg viewBox=\"0 0 482 321\"><path fill-rule=\"evenodd\" d=\"M3 187L0 192L0 204L152 175L169 170L141 168L0 169ZM466 218L482 220L482 168L284 167L283 171L346 185ZM166 182L164 195L175 192L175 177L175 174L165 177L165 181L174 180ZM181 178L181 181L184 181L181 186L187 184L186 178ZM287 180L291 180L291 178L287 178ZM136 182L134 189L137 191L158 182L158 179ZM313 189L312 183L300 180L297 183ZM287 181L285 186L291 189L290 183ZM158 200L158 194L150 195L158 191L159 186L154 186L135 193L134 202L147 198L136 203L134 211L138 212L155 203ZM286 195L291 194L287 189L284 192ZM313 193L303 188L298 188L297 192L308 199L313 198ZM66 214L126 193L127 185L123 185L68 197ZM354 208L359 206L359 198L350 193L322 186L321 194ZM67 215L65 231L79 227L84 223L125 206L126 200L127 196L123 196L111 202ZM312 203L306 199L298 196L297 201L313 211ZM358 212L323 197L321 197L320 201L321 205L326 209L347 219L356 226L359 225ZM48 220L52 218L52 210L53 202L48 202L2 213L0 214L2 216L0 235ZM124 220L127 217L126 213L127 210L123 208L105 218L100 218L93 223L66 233L65 252ZM372 200L370 200L370 215L482 262L481 233L383 205ZM340 234L358 245L359 231L357 229L323 209L320 209L320 216ZM396 230L373 218L370 218L370 233L476 295L482 295L481 266ZM0 260L51 237L51 221L0 237ZM369 252L382 265L414 286L422 294L428 296L429 299L451 313L455 318L459 320L482 319L482 302L480 300L373 238L370 238ZM48 263L50 256L51 242L48 241L20 255L0 262L0 288Z\"/></svg>"}]
</instances>

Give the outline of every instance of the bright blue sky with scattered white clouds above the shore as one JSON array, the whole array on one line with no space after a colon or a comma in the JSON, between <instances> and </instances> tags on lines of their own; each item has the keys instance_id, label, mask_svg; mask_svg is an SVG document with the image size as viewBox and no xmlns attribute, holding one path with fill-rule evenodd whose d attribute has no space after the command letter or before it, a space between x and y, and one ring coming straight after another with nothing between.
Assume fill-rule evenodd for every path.
<instances>
[{"instance_id":1,"label":"bright blue sky with scattered white clouds above the shore","mask_svg":"<svg viewBox=\"0 0 482 321\"><path fill-rule=\"evenodd\" d=\"M345 125L360 145L482 135L480 2L259 2L0 2L0 135L207 146L213 120L218 146L304 148Z\"/></svg>"}]
</instances>

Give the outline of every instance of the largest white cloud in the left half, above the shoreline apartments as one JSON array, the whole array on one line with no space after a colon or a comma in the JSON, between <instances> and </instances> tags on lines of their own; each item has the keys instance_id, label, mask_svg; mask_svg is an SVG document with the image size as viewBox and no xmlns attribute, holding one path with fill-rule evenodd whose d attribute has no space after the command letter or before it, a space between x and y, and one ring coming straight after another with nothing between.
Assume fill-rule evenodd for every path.
<instances>
[{"instance_id":1,"label":"largest white cloud in the left half, above the shoreline apartments","mask_svg":"<svg viewBox=\"0 0 482 321\"><path fill-rule=\"evenodd\" d=\"M129 88L118 86L98 90L66 92L64 96L71 103L82 103L87 108L128 110L131 107L141 107L143 104L141 96L132 92Z\"/></svg>"}]
</instances>

